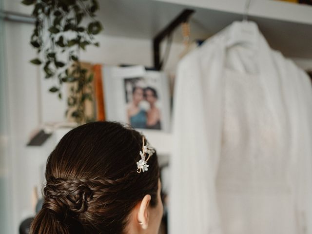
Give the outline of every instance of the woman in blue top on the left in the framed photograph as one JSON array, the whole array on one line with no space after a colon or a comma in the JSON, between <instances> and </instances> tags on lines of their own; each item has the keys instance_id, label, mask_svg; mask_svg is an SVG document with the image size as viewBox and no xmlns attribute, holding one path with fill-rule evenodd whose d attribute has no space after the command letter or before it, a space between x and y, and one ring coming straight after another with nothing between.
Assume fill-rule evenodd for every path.
<instances>
[{"instance_id":1,"label":"woman in blue top on the left in the framed photograph","mask_svg":"<svg viewBox=\"0 0 312 234\"><path fill-rule=\"evenodd\" d=\"M143 99L143 88L135 86L132 90L132 101L127 109L128 123L134 128L146 128L146 112L139 106Z\"/></svg>"}]
</instances>

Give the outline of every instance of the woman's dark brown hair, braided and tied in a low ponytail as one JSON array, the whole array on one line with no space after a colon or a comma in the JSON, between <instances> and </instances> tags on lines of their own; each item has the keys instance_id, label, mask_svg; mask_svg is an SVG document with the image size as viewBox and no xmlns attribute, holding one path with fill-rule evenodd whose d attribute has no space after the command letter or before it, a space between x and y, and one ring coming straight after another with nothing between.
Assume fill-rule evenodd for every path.
<instances>
[{"instance_id":1,"label":"woman's dark brown hair, braided and tied in a low ponytail","mask_svg":"<svg viewBox=\"0 0 312 234\"><path fill-rule=\"evenodd\" d=\"M157 203L156 153L137 173L142 135L116 122L92 122L68 132L50 154L41 211L31 234L124 234L144 195Z\"/></svg>"}]
</instances>

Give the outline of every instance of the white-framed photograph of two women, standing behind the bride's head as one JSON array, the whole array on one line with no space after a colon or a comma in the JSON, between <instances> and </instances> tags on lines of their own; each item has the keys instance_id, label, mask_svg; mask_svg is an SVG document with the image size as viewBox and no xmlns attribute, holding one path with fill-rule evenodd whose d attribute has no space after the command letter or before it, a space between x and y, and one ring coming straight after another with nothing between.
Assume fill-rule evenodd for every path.
<instances>
[{"instance_id":1,"label":"white-framed photograph of two women, standing behind the bride's head","mask_svg":"<svg viewBox=\"0 0 312 234\"><path fill-rule=\"evenodd\" d=\"M103 65L102 69L107 120L136 129L169 131L169 79L163 72L143 66Z\"/></svg>"}]
</instances>

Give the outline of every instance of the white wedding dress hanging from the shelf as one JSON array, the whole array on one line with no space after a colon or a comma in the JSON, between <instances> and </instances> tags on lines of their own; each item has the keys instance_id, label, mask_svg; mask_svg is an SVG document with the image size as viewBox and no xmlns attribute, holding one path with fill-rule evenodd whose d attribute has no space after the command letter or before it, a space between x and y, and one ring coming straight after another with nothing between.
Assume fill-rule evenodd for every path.
<instances>
[{"instance_id":1,"label":"white wedding dress hanging from the shelf","mask_svg":"<svg viewBox=\"0 0 312 234\"><path fill-rule=\"evenodd\" d=\"M312 234L307 75L235 22L182 59L176 82L169 233Z\"/></svg>"}]
</instances>

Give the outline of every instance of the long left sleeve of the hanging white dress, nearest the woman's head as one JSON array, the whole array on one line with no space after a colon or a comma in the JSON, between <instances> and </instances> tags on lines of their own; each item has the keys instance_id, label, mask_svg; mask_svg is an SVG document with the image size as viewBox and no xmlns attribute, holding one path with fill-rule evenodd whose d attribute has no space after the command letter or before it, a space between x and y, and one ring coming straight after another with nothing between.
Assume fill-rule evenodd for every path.
<instances>
[{"instance_id":1,"label":"long left sleeve of the hanging white dress, nearest the woman's head","mask_svg":"<svg viewBox=\"0 0 312 234\"><path fill-rule=\"evenodd\" d=\"M199 57L198 51L184 57L176 75L170 162L171 234L222 234L215 195L219 157L215 147L220 148L221 142L222 117L218 104L222 102L219 100L222 92L220 84L212 81L219 78L212 71L214 64ZM216 96L207 93L212 89L219 93Z\"/></svg>"}]
</instances>

